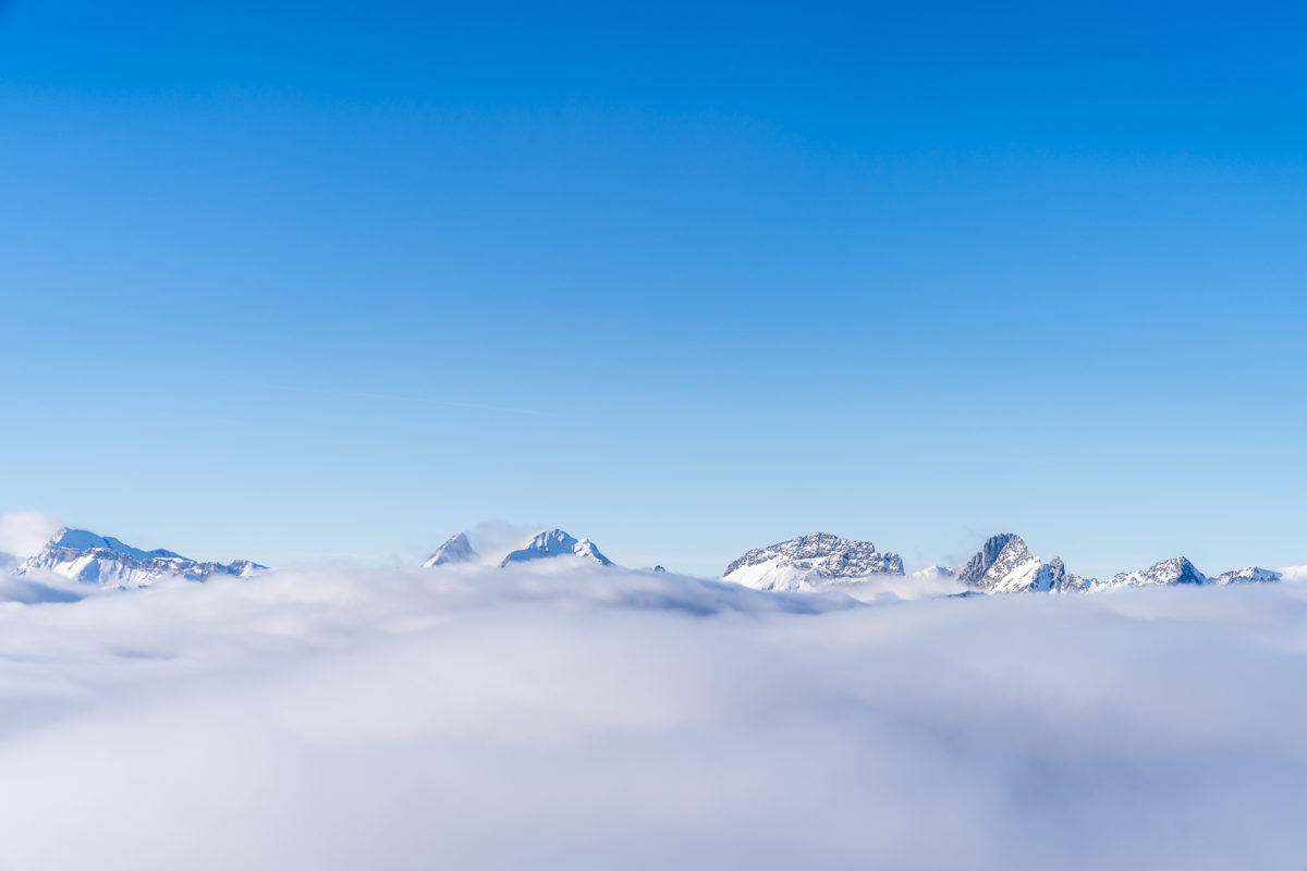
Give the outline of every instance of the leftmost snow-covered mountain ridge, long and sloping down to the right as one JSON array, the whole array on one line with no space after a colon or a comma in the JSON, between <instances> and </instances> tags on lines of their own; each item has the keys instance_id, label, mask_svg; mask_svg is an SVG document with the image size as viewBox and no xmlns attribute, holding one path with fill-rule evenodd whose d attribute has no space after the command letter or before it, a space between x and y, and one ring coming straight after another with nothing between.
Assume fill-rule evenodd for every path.
<instances>
[{"instance_id":1,"label":"leftmost snow-covered mountain ridge, long and sloping down to the right","mask_svg":"<svg viewBox=\"0 0 1307 871\"><path fill-rule=\"evenodd\" d=\"M52 572L82 584L132 588L149 586L165 577L191 581L221 575L248 577L263 568L267 567L244 559L226 564L200 563L170 550L142 551L114 537L64 528L13 573Z\"/></svg>"}]
</instances>

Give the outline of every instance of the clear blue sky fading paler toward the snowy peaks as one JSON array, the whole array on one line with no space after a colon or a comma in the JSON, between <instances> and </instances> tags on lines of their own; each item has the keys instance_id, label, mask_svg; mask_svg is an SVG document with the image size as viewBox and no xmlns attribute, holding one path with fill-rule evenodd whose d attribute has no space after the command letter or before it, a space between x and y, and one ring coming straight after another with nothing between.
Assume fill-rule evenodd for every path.
<instances>
[{"instance_id":1,"label":"clear blue sky fading paler toward the snowy peaks","mask_svg":"<svg viewBox=\"0 0 1307 871\"><path fill-rule=\"evenodd\" d=\"M10 0L0 508L269 563L1307 563L1304 25Z\"/></svg>"}]
</instances>

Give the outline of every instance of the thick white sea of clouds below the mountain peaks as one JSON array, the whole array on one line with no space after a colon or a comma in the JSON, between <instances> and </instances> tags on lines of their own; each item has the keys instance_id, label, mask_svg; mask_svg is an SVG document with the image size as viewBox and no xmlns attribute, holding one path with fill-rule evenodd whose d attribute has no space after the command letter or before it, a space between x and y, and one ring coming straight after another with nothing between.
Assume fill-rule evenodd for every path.
<instances>
[{"instance_id":1,"label":"thick white sea of clouds below the mountain peaks","mask_svg":"<svg viewBox=\"0 0 1307 871\"><path fill-rule=\"evenodd\" d=\"M8 598L5 870L1307 863L1297 582L860 602L565 558Z\"/></svg>"}]
</instances>

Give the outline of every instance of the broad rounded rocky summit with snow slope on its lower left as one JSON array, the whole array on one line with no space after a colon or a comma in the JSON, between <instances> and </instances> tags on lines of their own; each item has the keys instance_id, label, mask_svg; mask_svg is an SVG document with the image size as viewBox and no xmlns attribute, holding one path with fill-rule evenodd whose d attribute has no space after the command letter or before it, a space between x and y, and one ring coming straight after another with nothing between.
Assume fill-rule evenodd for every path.
<instances>
[{"instance_id":1,"label":"broad rounded rocky summit with snow slope on its lower left","mask_svg":"<svg viewBox=\"0 0 1307 871\"><path fill-rule=\"evenodd\" d=\"M898 554L877 551L872 542L812 533L749 551L727 567L721 580L792 593L870 575L903 575L903 560Z\"/></svg>"}]
</instances>

